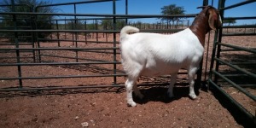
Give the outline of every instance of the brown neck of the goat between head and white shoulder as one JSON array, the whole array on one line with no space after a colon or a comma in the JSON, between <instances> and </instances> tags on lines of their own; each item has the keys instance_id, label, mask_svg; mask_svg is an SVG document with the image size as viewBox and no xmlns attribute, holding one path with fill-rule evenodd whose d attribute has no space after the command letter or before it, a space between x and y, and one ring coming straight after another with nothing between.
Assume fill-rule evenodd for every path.
<instances>
[{"instance_id":1,"label":"brown neck of the goat between head and white shoulder","mask_svg":"<svg viewBox=\"0 0 256 128\"><path fill-rule=\"evenodd\" d=\"M205 16L198 16L192 23L192 26L189 26L189 29L197 36L202 46L205 45L205 38L207 32L210 32L208 20Z\"/></svg>"}]
</instances>

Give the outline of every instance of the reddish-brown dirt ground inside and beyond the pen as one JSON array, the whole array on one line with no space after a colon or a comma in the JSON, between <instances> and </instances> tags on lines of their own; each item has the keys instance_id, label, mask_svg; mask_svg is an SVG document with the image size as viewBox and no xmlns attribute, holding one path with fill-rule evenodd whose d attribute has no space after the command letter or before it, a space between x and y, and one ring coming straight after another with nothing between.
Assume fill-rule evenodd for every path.
<instances>
[{"instance_id":1,"label":"reddish-brown dirt ground inside and beyond the pen","mask_svg":"<svg viewBox=\"0 0 256 128\"><path fill-rule=\"evenodd\" d=\"M224 38L227 42L232 40L234 42L236 40L248 42L247 39L243 37ZM249 40L253 40L251 44L255 44L255 39L255 36L249 38ZM52 45L53 43L45 44L49 47L53 47ZM96 47L96 44L88 45ZM85 45L79 44L79 46ZM73 46L70 43L61 43L61 47ZM52 51L48 53L50 52ZM47 52L45 53L47 54ZM51 54L58 55L58 53L53 52ZM65 54L66 56L69 55L68 52ZM99 60L102 58L112 59L112 56L108 54L87 55L86 57ZM71 61L50 57L43 59L44 61ZM3 60L2 62L11 61ZM208 62L210 61L208 60ZM89 67L40 66L21 67L21 70L24 77L82 75L101 72ZM110 66L105 68L108 67ZM121 69L121 66L118 68ZM15 77L16 74L16 67L0 67L1 77ZM186 81L183 77L179 77L178 80ZM118 83L124 82L124 78L118 78ZM23 83L30 87L112 84L113 79L27 79ZM19 83L17 80L2 80L0 85L3 88L18 86ZM135 98L138 104L136 108L126 106L125 89L117 87L1 92L0 127L243 127L236 122L233 113L230 113L218 102L211 91L199 90L198 98L191 100L188 97L188 86L178 86L174 90L176 98L171 100L166 97L166 86L140 87L140 89L145 99ZM232 93L236 90L230 91ZM252 103L252 106L255 108L255 104Z\"/></svg>"}]
</instances>

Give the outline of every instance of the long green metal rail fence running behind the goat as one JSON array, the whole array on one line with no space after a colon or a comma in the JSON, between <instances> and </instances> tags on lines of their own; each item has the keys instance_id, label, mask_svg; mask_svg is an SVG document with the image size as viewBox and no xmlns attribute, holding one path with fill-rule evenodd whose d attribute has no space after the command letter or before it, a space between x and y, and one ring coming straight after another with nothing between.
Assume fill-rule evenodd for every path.
<instances>
[{"instance_id":1,"label":"long green metal rail fence running behind the goat","mask_svg":"<svg viewBox=\"0 0 256 128\"><path fill-rule=\"evenodd\" d=\"M1 12L0 15L9 17L1 20L13 22L12 26L2 26L0 29L0 33L5 33L0 43L1 91L123 87L125 73L120 65L119 56L121 27L117 25L117 20L125 20L122 25L125 26L129 24L127 22L129 19L163 17L163 15L128 15L127 0L125 0L125 15L116 15L115 0L55 3L37 7L26 4L16 5L14 1L12 2L10 5L0 5L12 7L12 12ZM111 3L112 13L78 14L77 8L88 3ZM15 11L18 6L25 6L29 12ZM73 13L38 12L45 7L59 6L72 7ZM29 18L27 16L24 18L22 15L29 15ZM45 19L45 15L53 18ZM168 16L194 18L195 15ZM19 24L20 20L31 20L31 22L27 26L22 26ZM110 20L111 28L99 26L100 20ZM40 23L50 23L49 29L42 29ZM170 29L170 25L160 23L135 25L142 29L141 32L160 33L179 32L188 27L184 25ZM41 38L41 34L49 34L49 36ZM26 38L26 41L22 38ZM12 73L8 72L9 69ZM181 74L185 72L182 71ZM154 80L143 78L140 85L167 85L169 78L170 76L162 76ZM200 81L201 70L197 77L197 82Z\"/></svg>"}]
</instances>

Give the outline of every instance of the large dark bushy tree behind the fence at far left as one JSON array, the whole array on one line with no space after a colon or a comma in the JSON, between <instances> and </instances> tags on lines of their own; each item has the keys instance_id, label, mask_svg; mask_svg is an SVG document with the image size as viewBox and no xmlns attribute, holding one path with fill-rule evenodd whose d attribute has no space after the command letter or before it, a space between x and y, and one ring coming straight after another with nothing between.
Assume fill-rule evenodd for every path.
<instances>
[{"instance_id":1,"label":"large dark bushy tree behind the fence at far left","mask_svg":"<svg viewBox=\"0 0 256 128\"><path fill-rule=\"evenodd\" d=\"M10 0L3 0L0 4L7 5L7 6L1 6L0 12L13 12L11 1ZM41 5L50 4L46 1L40 1L37 0L15 0L15 11L16 12L33 12L34 8ZM38 8L37 12L39 13L55 13L57 9L53 7L42 7ZM14 27L13 22L13 15L1 15L1 18L3 19L2 22L0 22L0 26L5 27ZM51 29L51 19L54 17L52 15L37 15L36 17L33 15L16 15L16 25L17 29L35 29L35 25L37 25L37 29ZM48 20L48 21L47 21ZM23 41L30 41L32 38L28 38L31 33L18 33ZM49 32L38 32L38 38L45 38L49 35ZM35 38L34 38L35 39Z\"/></svg>"}]
</instances>

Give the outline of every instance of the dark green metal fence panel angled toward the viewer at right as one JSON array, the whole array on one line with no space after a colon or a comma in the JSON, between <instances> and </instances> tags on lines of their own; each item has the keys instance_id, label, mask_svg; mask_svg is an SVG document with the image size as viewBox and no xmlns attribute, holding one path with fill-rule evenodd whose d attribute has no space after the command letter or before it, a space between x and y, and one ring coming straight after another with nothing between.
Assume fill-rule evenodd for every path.
<instances>
[{"instance_id":1,"label":"dark green metal fence panel angled toward the viewer at right","mask_svg":"<svg viewBox=\"0 0 256 128\"><path fill-rule=\"evenodd\" d=\"M245 1L225 7L219 0L218 9L223 20L251 20L248 17L225 17L224 12L255 1ZM242 11L242 10L241 10ZM223 94L233 105L245 113L246 119L256 124L256 25L223 26L216 32L212 49L209 84L216 93ZM227 37L234 38L227 40ZM254 44L254 45L253 45Z\"/></svg>"}]
</instances>

